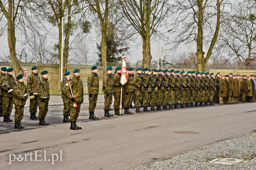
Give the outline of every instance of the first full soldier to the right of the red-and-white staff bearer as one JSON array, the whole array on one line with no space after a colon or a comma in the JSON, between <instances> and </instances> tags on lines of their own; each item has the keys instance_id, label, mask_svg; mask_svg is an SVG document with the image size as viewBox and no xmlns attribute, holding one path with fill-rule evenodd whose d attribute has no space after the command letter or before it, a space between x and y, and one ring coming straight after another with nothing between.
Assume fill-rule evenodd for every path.
<instances>
[{"instance_id":1,"label":"first full soldier to the right of the red-and-white staff bearer","mask_svg":"<svg viewBox=\"0 0 256 170\"><path fill-rule=\"evenodd\" d=\"M95 119L99 119L99 117L96 117L94 115L94 110L96 108L96 104L98 100L100 79L99 79L99 75L97 74L98 67L92 66L91 70L92 70L92 74L89 75L87 79L88 93L89 93L89 114L90 114L89 119L95 120Z\"/></svg>"}]
</instances>

